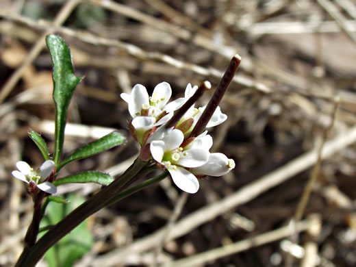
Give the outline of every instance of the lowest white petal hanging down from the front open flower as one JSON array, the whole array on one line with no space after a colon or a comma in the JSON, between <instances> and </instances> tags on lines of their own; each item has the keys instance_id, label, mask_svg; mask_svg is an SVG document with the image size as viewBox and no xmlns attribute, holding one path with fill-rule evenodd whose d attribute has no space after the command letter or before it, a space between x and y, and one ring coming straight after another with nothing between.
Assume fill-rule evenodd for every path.
<instances>
[{"instance_id":1,"label":"lowest white petal hanging down from the front open flower","mask_svg":"<svg viewBox=\"0 0 356 267\"><path fill-rule=\"evenodd\" d=\"M196 177L185 168L168 168L173 182L179 189L194 194L199 190L199 181Z\"/></svg>"}]
</instances>

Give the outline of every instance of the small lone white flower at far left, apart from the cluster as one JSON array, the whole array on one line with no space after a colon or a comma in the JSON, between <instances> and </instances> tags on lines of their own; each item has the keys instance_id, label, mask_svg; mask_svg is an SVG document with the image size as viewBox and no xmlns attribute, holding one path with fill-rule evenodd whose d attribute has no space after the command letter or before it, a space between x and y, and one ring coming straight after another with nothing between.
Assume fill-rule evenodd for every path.
<instances>
[{"instance_id":1,"label":"small lone white flower at far left, apart from the cluster","mask_svg":"<svg viewBox=\"0 0 356 267\"><path fill-rule=\"evenodd\" d=\"M57 192L57 188L50 183L49 181L44 181L51 175L54 169L54 162L51 160L46 160L38 171L34 171L27 162L16 162L16 168L18 170L13 170L12 175L15 178L24 181L25 183L29 183L33 181L36 183L36 186L49 194L55 194Z\"/></svg>"}]
</instances>

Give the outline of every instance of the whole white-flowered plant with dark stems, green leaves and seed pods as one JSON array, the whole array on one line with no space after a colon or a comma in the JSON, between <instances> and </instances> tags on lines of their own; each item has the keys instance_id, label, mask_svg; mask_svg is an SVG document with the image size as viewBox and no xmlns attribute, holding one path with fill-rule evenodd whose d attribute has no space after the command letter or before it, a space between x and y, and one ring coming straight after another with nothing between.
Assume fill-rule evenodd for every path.
<instances>
[{"instance_id":1,"label":"whole white-flowered plant with dark stems, green leaves and seed pods","mask_svg":"<svg viewBox=\"0 0 356 267\"><path fill-rule=\"evenodd\" d=\"M205 128L220 125L227 119L227 115L221 112L218 104L240 64L239 55L233 57L212 99L203 107L195 107L195 103L206 90L211 88L209 81L204 81L199 87L188 84L184 97L171 102L169 100L172 89L166 82L157 84L151 97L147 89L140 84L133 86L130 94L121 94L120 97L127 102L131 115L130 132L141 147L139 157L123 175L116 179L99 171L60 177L59 173L64 165L122 144L125 138L120 133L113 132L62 159L68 105L81 77L74 75L71 53L62 38L49 35L46 41L53 62L55 146L53 154L50 155L42 137L34 131L29 131L29 137L34 140L44 157L44 163L39 170L34 170L26 162L17 162L18 170L12 172L14 177L25 183L27 191L34 200L33 220L25 236L25 248L16 266L35 266L51 246L88 216L129 194L157 183L168 175L172 177L178 188L188 193L195 193L199 190L199 178L207 175L225 175L235 167L235 162L223 153L209 152L213 140ZM133 183L144 179L155 169L164 172L157 177ZM56 186L64 183L86 182L101 183L105 187L62 218L59 223L46 225L49 231L38 239L40 222L48 203L56 201L66 205L64 199L51 196L55 194ZM133 186L130 187L132 184ZM55 253L58 254L60 253ZM59 259L57 262L60 262Z\"/></svg>"}]
</instances>

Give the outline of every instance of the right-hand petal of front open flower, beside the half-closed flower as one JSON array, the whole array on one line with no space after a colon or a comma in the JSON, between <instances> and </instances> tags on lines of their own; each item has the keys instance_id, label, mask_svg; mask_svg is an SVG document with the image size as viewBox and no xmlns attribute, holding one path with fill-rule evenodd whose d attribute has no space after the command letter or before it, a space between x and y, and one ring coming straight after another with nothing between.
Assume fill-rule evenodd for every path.
<instances>
[{"instance_id":1,"label":"right-hand petal of front open flower, beside the half-closed flower","mask_svg":"<svg viewBox=\"0 0 356 267\"><path fill-rule=\"evenodd\" d=\"M180 154L177 164L187 168L196 168L207 163L209 154L209 151L205 149L188 149Z\"/></svg>"}]
</instances>

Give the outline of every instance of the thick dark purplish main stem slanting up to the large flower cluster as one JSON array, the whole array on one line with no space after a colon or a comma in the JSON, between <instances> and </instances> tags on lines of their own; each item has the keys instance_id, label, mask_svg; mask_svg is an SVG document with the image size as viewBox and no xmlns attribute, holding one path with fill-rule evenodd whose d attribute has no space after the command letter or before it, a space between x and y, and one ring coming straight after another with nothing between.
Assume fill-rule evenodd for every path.
<instances>
[{"instance_id":1,"label":"thick dark purplish main stem slanting up to the large flower cluster","mask_svg":"<svg viewBox=\"0 0 356 267\"><path fill-rule=\"evenodd\" d=\"M60 223L42 236L34 246L25 247L16 263L16 267L35 266L53 244L58 242L58 240L72 231L90 215L107 206L107 203L110 203L110 201L120 193L120 190L123 190L124 186L129 183L131 179L135 178L140 171L144 170L148 164L149 162L142 162L140 159L136 159L123 175L73 210L71 214L68 214Z\"/></svg>"}]
</instances>

